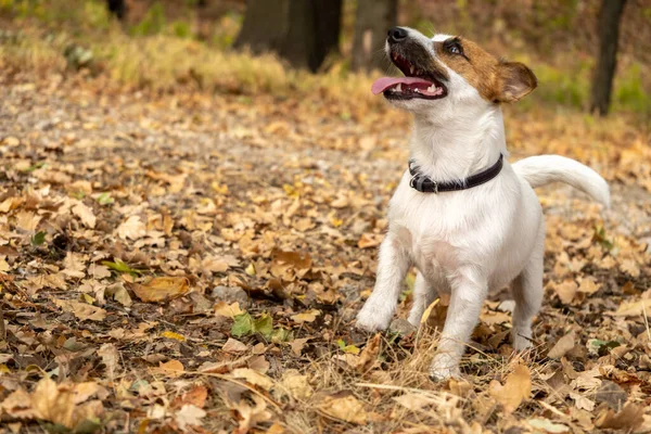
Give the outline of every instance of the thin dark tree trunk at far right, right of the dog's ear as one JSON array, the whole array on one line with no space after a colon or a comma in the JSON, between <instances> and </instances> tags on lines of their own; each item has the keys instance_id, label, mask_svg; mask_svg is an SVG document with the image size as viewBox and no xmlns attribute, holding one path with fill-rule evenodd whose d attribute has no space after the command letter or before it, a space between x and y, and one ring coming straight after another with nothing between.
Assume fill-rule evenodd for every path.
<instances>
[{"instance_id":1,"label":"thin dark tree trunk at far right, right of the dog's ear","mask_svg":"<svg viewBox=\"0 0 651 434\"><path fill-rule=\"evenodd\" d=\"M617 41L620 23L626 0L602 0L599 11L599 59L592 78L592 99L590 112L605 116L610 108L613 78L617 64Z\"/></svg>"}]
</instances>

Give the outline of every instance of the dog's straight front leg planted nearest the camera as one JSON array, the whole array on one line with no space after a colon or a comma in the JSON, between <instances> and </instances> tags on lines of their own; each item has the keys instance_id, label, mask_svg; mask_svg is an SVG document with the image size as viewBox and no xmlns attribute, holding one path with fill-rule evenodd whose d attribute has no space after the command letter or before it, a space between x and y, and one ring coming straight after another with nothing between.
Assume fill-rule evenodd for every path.
<instances>
[{"instance_id":1,"label":"dog's straight front leg planted nearest the camera","mask_svg":"<svg viewBox=\"0 0 651 434\"><path fill-rule=\"evenodd\" d=\"M473 270L460 270L450 283L450 305L430 368L432 380L459 375L459 362L465 344L480 320L482 305L488 293L486 279Z\"/></svg>"}]
</instances>

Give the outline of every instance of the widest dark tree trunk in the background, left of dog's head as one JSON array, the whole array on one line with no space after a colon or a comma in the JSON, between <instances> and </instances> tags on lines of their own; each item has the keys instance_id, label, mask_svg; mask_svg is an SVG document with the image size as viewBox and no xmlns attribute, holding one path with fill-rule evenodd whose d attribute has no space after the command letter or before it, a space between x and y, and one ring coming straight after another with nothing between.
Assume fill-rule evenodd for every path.
<instances>
[{"instance_id":1,"label":"widest dark tree trunk in the background, left of dog's head","mask_svg":"<svg viewBox=\"0 0 651 434\"><path fill-rule=\"evenodd\" d=\"M316 72L339 49L342 0L248 0L234 48L276 52Z\"/></svg>"}]
</instances>

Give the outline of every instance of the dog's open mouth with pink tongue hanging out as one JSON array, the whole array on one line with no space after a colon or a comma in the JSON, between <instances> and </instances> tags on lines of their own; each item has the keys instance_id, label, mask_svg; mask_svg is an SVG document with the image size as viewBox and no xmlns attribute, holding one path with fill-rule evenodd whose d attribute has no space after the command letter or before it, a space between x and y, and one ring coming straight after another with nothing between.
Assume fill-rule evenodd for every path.
<instances>
[{"instance_id":1,"label":"dog's open mouth with pink tongue hanging out","mask_svg":"<svg viewBox=\"0 0 651 434\"><path fill-rule=\"evenodd\" d=\"M392 53L391 60L405 77L378 78L371 87L373 94L384 93L388 100L438 100L447 97L447 88L433 73L418 68L397 53Z\"/></svg>"}]
</instances>

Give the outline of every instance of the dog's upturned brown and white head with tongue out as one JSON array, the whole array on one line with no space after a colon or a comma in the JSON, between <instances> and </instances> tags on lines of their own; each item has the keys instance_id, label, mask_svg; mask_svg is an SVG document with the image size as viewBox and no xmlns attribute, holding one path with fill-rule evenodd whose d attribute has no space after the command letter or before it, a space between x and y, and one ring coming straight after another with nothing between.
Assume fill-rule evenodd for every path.
<instances>
[{"instance_id":1,"label":"dog's upturned brown and white head with tongue out","mask_svg":"<svg viewBox=\"0 0 651 434\"><path fill-rule=\"evenodd\" d=\"M505 62L476 43L448 35L429 39L408 27L394 27L386 53L405 77L383 77L372 87L391 103L436 117L468 106L514 102L532 92L536 76L522 63Z\"/></svg>"}]
</instances>

